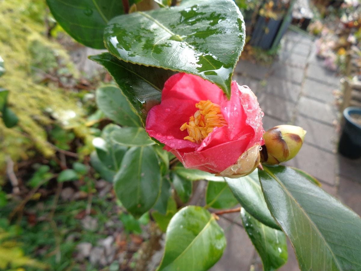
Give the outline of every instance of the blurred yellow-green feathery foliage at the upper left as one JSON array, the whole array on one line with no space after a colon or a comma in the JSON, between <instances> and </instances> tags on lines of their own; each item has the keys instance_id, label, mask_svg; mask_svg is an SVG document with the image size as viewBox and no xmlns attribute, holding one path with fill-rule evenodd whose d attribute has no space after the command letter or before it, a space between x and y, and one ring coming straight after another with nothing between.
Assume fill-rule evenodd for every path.
<instances>
[{"instance_id":1,"label":"blurred yellow-green feathery foliage at the upper left","mask_svg":"<svg viewBox=\"0 0 361 271\"><path fill-rule=\"evenodd\" d=\"M0 87L10 91L8 103L19 118L12 129L0 121L0 175L8 155L16 161L27 159L34 151L54 154L44 129L54 119L74 129L77 136L89 134L83 110L71 90L61 89L52 80L47 85L40 82L54 73L60 81L77 77L66 51L44 34L46 9L44 0L0 0L0 54L6 69Z\"/></svg>"}]
</instances>

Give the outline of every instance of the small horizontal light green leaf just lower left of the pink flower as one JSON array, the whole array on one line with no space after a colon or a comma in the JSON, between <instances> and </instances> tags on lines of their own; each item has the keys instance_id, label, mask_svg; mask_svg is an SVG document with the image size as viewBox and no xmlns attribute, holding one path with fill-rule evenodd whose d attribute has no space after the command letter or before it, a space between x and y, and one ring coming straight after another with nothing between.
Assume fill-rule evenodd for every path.
<instances>
[{"instance_id":1,"label":"small horizontal light green leaf just lower left of the pink flower","mask_svg":"<svg viewBox=\"0 0 361 271\"><path fill-rule=\"evenodd\" d=\"M143 127L124 127L110 135L113 142L122 146L148 146L155 142L148 136Z\"/></svg>"}]
</instances>

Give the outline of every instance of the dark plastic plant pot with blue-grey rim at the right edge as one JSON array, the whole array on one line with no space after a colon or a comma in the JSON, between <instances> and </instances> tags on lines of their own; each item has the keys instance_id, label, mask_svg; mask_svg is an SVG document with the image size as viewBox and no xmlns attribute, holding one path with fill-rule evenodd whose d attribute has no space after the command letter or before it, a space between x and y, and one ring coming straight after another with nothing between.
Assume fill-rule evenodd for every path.
<instances>
[{"instance_id":1,"label":"dark plastic plant pot with blue-grey rim at the right edge","mask_svg":"<svg viewBox=\"0 0 361 271\"><path fill-rule=\"evenodd\" d=\"M361 108L350 106L343 111L344 126L338 146L338 151L343 156L351 159L361 157L361 125L351 115L361 116Z\"/></svg>"}]
</instances>

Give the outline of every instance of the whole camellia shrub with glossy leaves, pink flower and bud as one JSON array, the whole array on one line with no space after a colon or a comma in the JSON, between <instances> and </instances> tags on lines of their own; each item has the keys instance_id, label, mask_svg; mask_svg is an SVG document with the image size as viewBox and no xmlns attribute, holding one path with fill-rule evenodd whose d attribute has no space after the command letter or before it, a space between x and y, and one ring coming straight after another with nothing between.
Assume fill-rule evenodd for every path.
<instances>
[{"instance_id":1,"label":"whole camellia shrub with glossy leaves, pink flower and bud","mask_svg":"<svg viewBox=\"0 0 361 271\"><path fill-rule=\"evenodd\" d=\"M264 270L287 261L286 236L301 270L360 270L360 217L306 172L279 165L306 132L265 132L255 94L232 81L245 41L235 3L158 0L137 11L138 2L47 0L75 40L108 50L90 59L117 84L96 93L114 124L94 139L91 161L129 213L151 211L166 231L158 270L212 267L226 247L217 220L232 211ZM187 205L196 180L208 181L204 206Z\"/></svg>"}]
</instances>

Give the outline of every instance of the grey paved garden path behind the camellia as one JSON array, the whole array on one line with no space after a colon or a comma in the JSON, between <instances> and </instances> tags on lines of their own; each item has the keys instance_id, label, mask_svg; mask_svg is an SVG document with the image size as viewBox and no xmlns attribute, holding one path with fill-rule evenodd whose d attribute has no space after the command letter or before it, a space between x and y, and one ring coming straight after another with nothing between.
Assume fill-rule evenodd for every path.
<instances>
[{"instance_id":1,"label":"grey paved garden path behind the camellia","mask_svg":"<svg viewBox=\"0 0 361 271\"><path fill-rule=\"evenodd\" d=\"M307 130L299 154L286 164L312 174L328 193L338 197L361 215L361 159L350 160L336 153L339 115L332 92L340 77L328 72L316 57L316 44L308 36L288 31L282 41L279 60L270 67L240 61L234 80L248 85L264 111L265 130L279 124L293 124ZM213 271L262 270L237 215L219 220L227 235L227 248ZM291 244L282 271L299 270Z\"/></svg>"}]
</instances>

